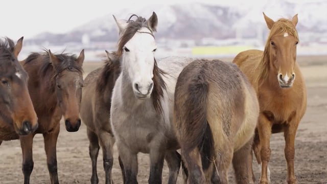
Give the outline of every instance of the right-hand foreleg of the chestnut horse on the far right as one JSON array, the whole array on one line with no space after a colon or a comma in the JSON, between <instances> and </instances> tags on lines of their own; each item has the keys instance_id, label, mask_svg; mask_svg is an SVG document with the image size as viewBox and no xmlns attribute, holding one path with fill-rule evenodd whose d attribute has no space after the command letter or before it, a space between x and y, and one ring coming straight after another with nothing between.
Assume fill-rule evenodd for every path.
<instances>
[{"instance_id":1,"label":"right-hand foreleg of the chestnut horse on the far right","mask_svg":"<svg viewBox=\"0 0 327 184\"><path fill-rule=\"evenodd\" d=\"M291 121L285 128L284 137L285 137L285 158L287 162L287 183L293 184L296 183L295 174L294 174L294 157L295 157L295 148L294 141L296 130L299 121Z\"/></svg>"}]
</instances>

